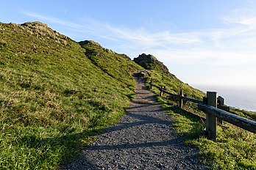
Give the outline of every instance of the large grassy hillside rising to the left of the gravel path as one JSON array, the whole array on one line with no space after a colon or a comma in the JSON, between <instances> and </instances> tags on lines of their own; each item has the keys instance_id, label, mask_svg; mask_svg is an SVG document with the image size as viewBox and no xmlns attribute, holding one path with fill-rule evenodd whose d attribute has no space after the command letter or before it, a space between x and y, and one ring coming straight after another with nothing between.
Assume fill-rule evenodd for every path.
<instances>
[{"instance_id":1,"label":"large grassy hillside rising to the left of the gravel path","mask_svg":"<svg viewBox=\"0 0 256 170\"><path fill-rule=\"evenodd\" d=\"M124 55L99 48L101 59L132 66L105 69L85 56L97 47L85 51L39 22L0 23L0 37L1 169L54 169L129 106L141 67Z\"/></svg>"}]
</instances>

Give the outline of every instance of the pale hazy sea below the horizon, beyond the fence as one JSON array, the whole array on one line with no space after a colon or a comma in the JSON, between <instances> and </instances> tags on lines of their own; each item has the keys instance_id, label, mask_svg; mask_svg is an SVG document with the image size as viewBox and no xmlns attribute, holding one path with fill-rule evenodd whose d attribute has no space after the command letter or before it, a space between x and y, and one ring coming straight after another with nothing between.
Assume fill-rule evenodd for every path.
<instances>
[{"instance_id":1,"label":"pale hazy sea below the horizon, beyond the fence","mask_svg":"<svg viewBox=\"0 0 256 170\"><path fill-rule=\"evenodd\" d=\"M256 86L214 86L192 85L202 92L217 92L217 97L225 99L227 106L240 108L246 111L256 111Z\"/></svg>"}]
</instances>

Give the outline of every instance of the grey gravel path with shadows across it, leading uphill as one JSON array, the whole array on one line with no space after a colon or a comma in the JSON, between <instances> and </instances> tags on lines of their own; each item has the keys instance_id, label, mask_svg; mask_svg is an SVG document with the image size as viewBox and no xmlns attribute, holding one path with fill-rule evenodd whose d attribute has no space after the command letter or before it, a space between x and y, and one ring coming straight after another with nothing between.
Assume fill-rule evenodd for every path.
<instances>
[{"instance_id":1,"label":"grey gravel path with shadows across it, leading uphill","mask_svg":"<svg viewBox=\"0 0 256 170\"><path fill-rule=\"evenodd\" d=\"M174 134L170 116L142 79L129 111L108 127L82 155L61 169L207 169L197 150Z\"/></svg>"}]
</instances>

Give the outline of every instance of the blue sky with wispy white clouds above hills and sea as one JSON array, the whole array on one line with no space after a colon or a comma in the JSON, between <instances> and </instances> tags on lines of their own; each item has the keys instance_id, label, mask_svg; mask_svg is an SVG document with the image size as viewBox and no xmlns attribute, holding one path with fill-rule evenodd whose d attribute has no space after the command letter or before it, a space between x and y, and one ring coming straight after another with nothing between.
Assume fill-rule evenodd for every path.
<instances>
[{"instance_id":1,"label":"blue sky with wispy white clouds above hills and sea","mask_svg":"<svg viewBox=\"0 0 256 170\"><path fill-rule=\"evenodd\" d=\"M188 84L256 86L256 0L1 0L0 21L151 53Z\"/></svg>"}]
</instances>

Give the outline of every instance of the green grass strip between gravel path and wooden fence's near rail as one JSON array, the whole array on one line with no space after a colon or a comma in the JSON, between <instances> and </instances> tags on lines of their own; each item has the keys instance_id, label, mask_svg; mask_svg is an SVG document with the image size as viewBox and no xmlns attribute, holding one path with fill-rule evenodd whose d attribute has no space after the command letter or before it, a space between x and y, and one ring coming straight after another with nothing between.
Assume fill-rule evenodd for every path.
<instances>
[{"instance_id":1,"label":"green grass strip between gravel path and wooden fence's near rail","mask_svg":"<svg viewBox=\"0 0 256 170\"><path fill-rule=\"evenodd\" d=\"M176 132L186 144L199 148L203 162L211 169L256 169L256 135L224 122L217 127L216 141L207 139L201 119L179 108L166 107Z\"/></svg>"}]
</instances>

